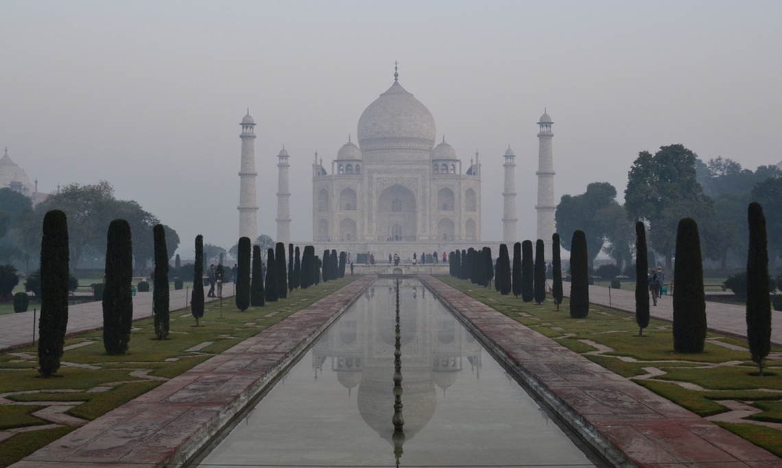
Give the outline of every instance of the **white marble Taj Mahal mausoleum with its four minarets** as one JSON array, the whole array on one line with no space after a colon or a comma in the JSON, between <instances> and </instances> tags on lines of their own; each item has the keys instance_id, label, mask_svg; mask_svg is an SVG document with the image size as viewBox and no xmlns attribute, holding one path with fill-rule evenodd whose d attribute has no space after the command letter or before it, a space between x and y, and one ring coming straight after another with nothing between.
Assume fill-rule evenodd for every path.
<instances>
[{"instance_id":1,"label":"white marble Taj Mahal mausoleum with its four minarets","mask_svg":"<svg viewBox=\"0 0 782 468\"><path fill-rule=\"evenodd\" d=\"M432 113L399 83L394 67L391 87L361 114L356 143L351 138L330 164L315 152L312 160L312 239L295 241L314 245L315 252L335 249L368 253L387 263L389 255L412 258L500 241L481 238L481 159L478 152L463 165L456 150L437 141ZM537 238L551 255L554 234L554 164L551 151L551 117L543 113L538 125L539 164L536 204ZM242 119L242 162L239 171L239 237L257 237L256 123L249 112ZM277 235L290 238L289 153L278 154ZM503 238L517 241L515 154L504 155ZM500 158L497 158L499 163ZM500 186L490 180L490 187ZM496 252L496 250L495 250ZM356 257L353 257L356 258ZM430 260L431 261L431 260ZM420 263L420 260L419 260Z\"/></svg>"}]
</instances>

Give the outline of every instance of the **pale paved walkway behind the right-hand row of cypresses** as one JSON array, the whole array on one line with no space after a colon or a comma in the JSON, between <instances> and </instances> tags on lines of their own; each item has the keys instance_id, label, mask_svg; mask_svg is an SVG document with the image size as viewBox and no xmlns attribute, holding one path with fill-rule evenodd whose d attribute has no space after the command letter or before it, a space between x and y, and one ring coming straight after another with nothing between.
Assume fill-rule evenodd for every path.
<instances>
[{"instance_id":1,"label":"pale paved walkway behind the right-hand row of cypresses","mask_svg":"<svg viewBox=\"0 0 782 468\"><path fill-rule=\"evenodd\" d=\"M562 289L565 291L565 296L570 295L569 282L564 281ZM673 322L673 296L662 296L656 306L651 305L651 297L649 301L653 318ZM590 286L589 302L606 307L610 305L613 309L635 314L635 291ZM735 338L747 338L747 309L742 305L707 301L706 323L709 331ZM773 345L782 346L782 312L776 310L771 311L771 342Z\"/></svg>"}]
</instances>

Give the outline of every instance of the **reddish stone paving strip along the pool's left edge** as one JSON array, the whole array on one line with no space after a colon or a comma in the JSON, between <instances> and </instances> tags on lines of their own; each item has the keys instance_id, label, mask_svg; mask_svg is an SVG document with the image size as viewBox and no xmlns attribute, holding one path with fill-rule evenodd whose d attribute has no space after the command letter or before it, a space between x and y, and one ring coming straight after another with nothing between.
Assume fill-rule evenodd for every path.
<instances>
[{"instance_id":1,"label":"reddish stone paving strip along the pool's left edge","mask_svg":"<svg viewBox=\"0 0 782 468\"><path fill-rule=\"evenodd\" d=\"M353 281L39 449L13 468L181 466L274 383L373 280L366 276Z\"/></svg>"}]
</instances>

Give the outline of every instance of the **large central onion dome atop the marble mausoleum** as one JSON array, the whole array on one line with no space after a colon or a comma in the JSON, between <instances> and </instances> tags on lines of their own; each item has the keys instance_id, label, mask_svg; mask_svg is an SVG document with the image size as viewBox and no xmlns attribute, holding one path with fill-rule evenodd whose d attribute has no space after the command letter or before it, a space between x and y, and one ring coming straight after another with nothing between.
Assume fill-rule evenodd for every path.
<instances>
[{"instance_id":1,"label":"large central onion dome atop the marble mausoleum","mask_svg":"<svg viewBox=\"0 0 782 468\"><path fill-rule=\"evenodd\" d=\"M435 120L418 99L394 81L372 102L358 120L361 149L413 147L431 149L435 144Z\"/></svg>"}]
</instances>

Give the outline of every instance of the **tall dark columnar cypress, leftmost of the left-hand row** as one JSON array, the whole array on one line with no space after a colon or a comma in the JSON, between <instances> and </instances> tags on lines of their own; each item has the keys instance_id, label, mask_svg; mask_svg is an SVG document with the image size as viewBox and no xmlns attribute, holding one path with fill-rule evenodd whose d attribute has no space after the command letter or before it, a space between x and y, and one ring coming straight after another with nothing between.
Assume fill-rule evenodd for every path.
<instances>
[{"instance_id":1,"label":"tall dark columnar cypress, leftmost of the left-hand row","mask_svg":"<svg viewBox=\"0 0 782 468\"><path fill-rule=\"evenodd\" d=\"M63 357L68 325L69 245L65 213L44 216L41 237L41 318L38 320L38 372L52 377Z\"/></svg>"}]
</instances>

